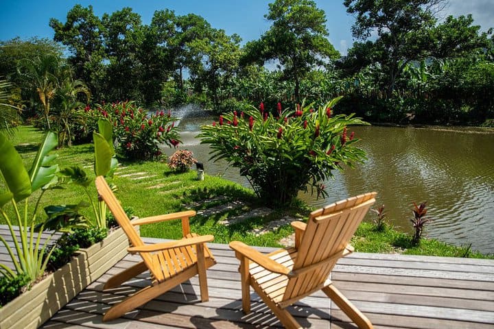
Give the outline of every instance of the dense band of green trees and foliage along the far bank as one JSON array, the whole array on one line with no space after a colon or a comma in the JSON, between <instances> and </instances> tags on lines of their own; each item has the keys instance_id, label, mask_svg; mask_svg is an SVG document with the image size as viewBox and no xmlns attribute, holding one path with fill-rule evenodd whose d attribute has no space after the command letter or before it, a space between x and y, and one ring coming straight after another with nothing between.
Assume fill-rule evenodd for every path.
<instances>
[{"instance_id":1,"label":"dense band of green trees and foliage along the far bank","mask_svg":"<svg viewBox=\"0 0 494 329\"><path fill-rule=\"evenodd\" d=\"M239 103L322 103L343 95L339 110L368 121L489 125L491 29L481 32L471 15L440 19L443 0L343 3L355 16L357 42L342 57L329 42L329 13L311 0L274 0L265 15L270 27L244 47L239 36L197 14L156 10L146 25L131 8L96 16L91 5L75 5L64 22L50 20L56 42L2 42L8 47L0 47L0 76L13 84L12 105L22 97L28 117L36 108L54 114L45 126L62 133L61 145L77 139L72 114L87 95L98 103L134 99L160 109L198 103L218 114ZM17 72L19 62L39 69L43 58L60 57L57 42L69 50L71 80L58 75L43 89ZM267 71L267 63L276 69Z\"/></svg>"}]
</instances>

